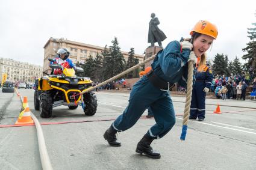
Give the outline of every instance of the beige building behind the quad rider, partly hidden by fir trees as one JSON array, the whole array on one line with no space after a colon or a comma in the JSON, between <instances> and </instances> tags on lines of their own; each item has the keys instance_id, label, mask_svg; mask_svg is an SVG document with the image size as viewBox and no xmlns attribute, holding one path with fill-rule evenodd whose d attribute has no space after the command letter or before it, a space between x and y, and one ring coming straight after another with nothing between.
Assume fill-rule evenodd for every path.
<instances>
[{"instance_id":1,"label":"beige building behind the quad rider, partly hidden by fir trees","mask_svg":"<svg viewBox=\"0 0 256 170\"><path fill-rule=\"evenodd\" d=\"M64 40L63 38L49 38L45 46L45 55L43 58L43 72L51 73L51 68L49 67L48 58L54 58L57 55L57 50L60 48L67 48L70 51L69 58L74 62L84 63L86 58L89 55L92 55L93 58L96 57L97 52L101 54L104 50L104 47L93 46L91 44L84 44L70 40ZM124 58L128 59L128 52L122 52ZM144 60L144 55L135 54L135 57L139 58L139 62Z\"/></svg>"}]
</instances>

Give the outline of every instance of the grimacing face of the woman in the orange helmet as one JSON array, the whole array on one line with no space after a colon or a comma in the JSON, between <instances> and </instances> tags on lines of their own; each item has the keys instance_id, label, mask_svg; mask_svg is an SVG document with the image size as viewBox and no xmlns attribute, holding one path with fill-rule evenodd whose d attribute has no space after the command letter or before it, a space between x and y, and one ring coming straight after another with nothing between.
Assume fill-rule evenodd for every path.
<instances>
[{"instance_id":1,"label":"grimacing face of the woman in the orange helmet","mask_svg":"<svg viewBox=\"0 0 256 170\"><path fill-rule=\"evenodd\" d=\"M201 57L211 46L214 38L201 34L193 41L193 51L197 57Z\"/></svg>"}]
</instances>

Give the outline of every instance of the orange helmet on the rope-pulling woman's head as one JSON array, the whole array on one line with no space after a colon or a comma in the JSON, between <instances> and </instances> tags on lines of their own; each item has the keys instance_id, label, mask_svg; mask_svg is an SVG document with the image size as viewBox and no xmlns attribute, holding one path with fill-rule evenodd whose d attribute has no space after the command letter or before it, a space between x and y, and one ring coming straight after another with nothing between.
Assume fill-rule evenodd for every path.
<instances>
[{"instance_id":1,"label":"orange helmet on the rope-pulling woman's head","mask_svg":"<svg viewBox=\"0 0 256 170\"><path fill-rule=\"evenodd\" d=\"M201 34L209 35L210 37L213 37L214 39L216 39L217 35L218 35L217 27L215 25L213 25L212 23L208 22L207 20L199 20L199 22L196 23L196 25L190 32L190 35L192 35L193 32L198 32Z\"/></svg>"}]
</instances>

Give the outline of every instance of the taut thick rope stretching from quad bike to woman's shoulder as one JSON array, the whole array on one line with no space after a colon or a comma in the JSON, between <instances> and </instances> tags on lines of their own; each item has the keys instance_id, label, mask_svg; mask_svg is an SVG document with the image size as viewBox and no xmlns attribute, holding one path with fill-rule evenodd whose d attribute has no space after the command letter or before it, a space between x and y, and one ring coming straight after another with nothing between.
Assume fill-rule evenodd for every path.
<instances>
[{"instance_id":1,"label":"taut thick rope stretching from quad bike to woman's shoulder","mask_svg":"<svg viewBox=\"0 0 256 170\"><path fill-rule=\"evenodd\" d=\"M96 85L96 86L94 86L94 87L87 88L87 90L83 91L83 92L80 93L80 94L84 94L84 93L87 93L88 91L95 90L95 89L98 88L98 87L101 87L101 86L103 86L103 85L105 85L105 84L107 84L107 83L109 83L109 82L111 82L111 81L113 81L113 80L118 79L119 77L122 77L123 75L125 75L125 74L127 74L127 73L130 73L131 71L135 70L136 68L138 68L138 67L144 65L146 62L149 62L149 61L151 61L152 59L154 59L155 56L156 56L156 55L153 55L153 56L149 57L148 59L145 59L144 61L140 62L140 63L137 64L137 65L134 65L133 67L129 68L128 70L125 70L125 71L123 71L122 73L117 74L116 76L111 77L111 78L108 79L108 80L105 80L105 82L99 83L98 85Z\"/></svg>"}]
</instances>

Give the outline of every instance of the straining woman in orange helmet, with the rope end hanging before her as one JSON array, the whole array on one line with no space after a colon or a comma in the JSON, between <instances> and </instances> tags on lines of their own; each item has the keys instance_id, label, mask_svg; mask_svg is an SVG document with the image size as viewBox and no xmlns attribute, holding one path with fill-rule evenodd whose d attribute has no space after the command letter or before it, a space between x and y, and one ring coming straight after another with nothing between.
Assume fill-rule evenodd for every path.
<instances>
[{"instance_id":1,"label":"straining woman in orange helmet, with the rope end hanging before her","mask_svg":"<svg viewBox=\"0 0 256 170\"><path fill-rule=\"evenodd\" d=\"M194 32L197 32L199 36L195 38ZM183 87L187 86L188 62L196 64L197 57L201 58L204 55L217 37L217 28L210 22L202 20L196 23L190 35L192 35L191 39L186 39L181 43L172 41L165 49L157 53L151 65L152 70L134 84L125 111L104 133L104 139L108 141L108 144L120 147L121 144L117 141L116 133L130 129L150 106L156 124L139 141L136 153L145 154L154 159L161 157L160 153L153 151L150 145L154 139L163 138L175 124L175 113L169 95L169 88L176 82ZM191 68L193 69L193 67ZM193 75L190 74L189 76L189 80L192 82L191 77ZM190 90L190 97L187 97L187 99L191 101L192 83L190 83L190 86L187 89ZM186 105L185 120L189 117L190 101L186 102L189 104ZM181 139L184 140L187 121L183 124L185 127L183 127Z\"/></svg>"}]
</instances>

